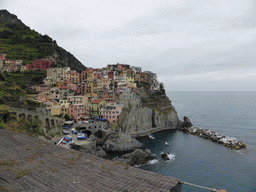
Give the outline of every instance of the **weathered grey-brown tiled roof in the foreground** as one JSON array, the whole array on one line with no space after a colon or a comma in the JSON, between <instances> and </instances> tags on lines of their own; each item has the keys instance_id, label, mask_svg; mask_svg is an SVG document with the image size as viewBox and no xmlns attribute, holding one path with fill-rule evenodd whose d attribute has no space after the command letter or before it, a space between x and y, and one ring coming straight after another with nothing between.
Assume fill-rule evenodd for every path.
<instances>
[{"instance_id":1,"label":"weathered grey-brown tiled roof in the foreground","mask_svg":"<svg viewBox=\"0 0 256 192\"><path fill-rule=\"evenodd\" d=\"M0 191L179 191L180 180L0 129Z\"/></svg>"}]
</instances>

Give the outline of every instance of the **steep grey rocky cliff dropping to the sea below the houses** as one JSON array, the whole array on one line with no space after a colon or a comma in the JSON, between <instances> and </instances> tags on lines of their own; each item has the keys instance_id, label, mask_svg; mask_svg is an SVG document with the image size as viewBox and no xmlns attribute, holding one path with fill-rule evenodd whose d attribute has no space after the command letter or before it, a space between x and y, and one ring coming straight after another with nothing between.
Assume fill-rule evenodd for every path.
<instances>
[{"instance_id":1,"label":"steep grey rocky cliff dropping to the sea below the houses","mask_svg":"<svg viewBox=\"0 0 256 192\"><path fill-rule=\"evenodd\" d=\"M175 108L165 95L163 87L160 91L150 91L148 84L138 84L141 102L124 108L114 125L123 133L143 132L151 128L179 128L182 123Z\"/></svg>"}]
</instances>

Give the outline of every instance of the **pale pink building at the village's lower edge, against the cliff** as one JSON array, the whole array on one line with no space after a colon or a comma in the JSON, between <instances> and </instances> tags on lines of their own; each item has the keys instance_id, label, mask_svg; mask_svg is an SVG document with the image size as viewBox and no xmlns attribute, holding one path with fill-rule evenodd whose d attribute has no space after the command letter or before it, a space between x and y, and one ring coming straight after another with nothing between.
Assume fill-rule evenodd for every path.
<instances>
[{"instance_id":1,"label":"pale pink building at the village's lower edge, against the cliff","mask_svg":"<svg viewBox=\"0 0 256 192\"><path fill-rule=\"evenodd\" d=\"M106 109L103 111L103 118L107 119L110 123L116 122L122 109L123 105L108 103Z\"/></svg>"}]
</instances>

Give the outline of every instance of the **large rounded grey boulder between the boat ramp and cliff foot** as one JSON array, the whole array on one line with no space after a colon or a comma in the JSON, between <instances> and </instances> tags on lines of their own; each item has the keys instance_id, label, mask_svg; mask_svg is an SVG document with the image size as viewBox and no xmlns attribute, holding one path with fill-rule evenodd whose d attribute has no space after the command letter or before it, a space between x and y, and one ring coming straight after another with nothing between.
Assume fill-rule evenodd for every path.
<instances>
[{"instance_id":1,"label":"large rounded grey boulder between the boat ramp and cliff foot","mask_svg":"<svg viewBox=\"0 0 256 192\"><path fill-rule=\"evenodd\" d=\"M107 152L133 151L142 146L142 143L124 133L112 133L104 142L102 148Z\"/></svg>"}]
</instances>

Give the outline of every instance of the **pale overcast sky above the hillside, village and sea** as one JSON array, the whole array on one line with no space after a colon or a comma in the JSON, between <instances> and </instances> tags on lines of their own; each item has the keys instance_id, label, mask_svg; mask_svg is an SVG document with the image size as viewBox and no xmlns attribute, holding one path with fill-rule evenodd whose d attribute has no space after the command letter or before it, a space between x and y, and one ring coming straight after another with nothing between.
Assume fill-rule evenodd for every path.
<instances>
[{"instance_id":1,"label":"pale overcast sky above the hillside, village and sea","mask_svg":"<svg viewBox=\"0 0 256 192\"><path fill-rule=\"evenodd\" d=\"M167 91L256 91L255 0L0 0L86 67L124 63Z\"/></svg>"}]
</instances>

